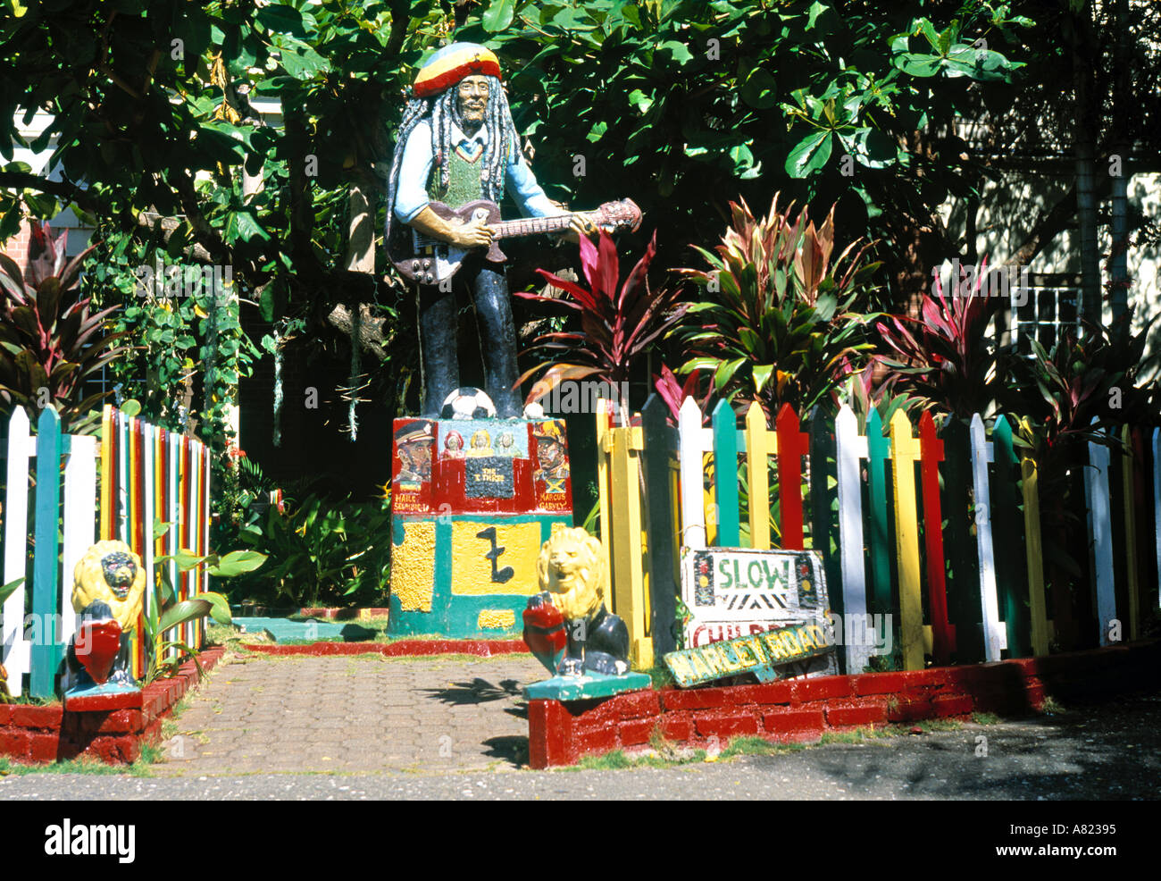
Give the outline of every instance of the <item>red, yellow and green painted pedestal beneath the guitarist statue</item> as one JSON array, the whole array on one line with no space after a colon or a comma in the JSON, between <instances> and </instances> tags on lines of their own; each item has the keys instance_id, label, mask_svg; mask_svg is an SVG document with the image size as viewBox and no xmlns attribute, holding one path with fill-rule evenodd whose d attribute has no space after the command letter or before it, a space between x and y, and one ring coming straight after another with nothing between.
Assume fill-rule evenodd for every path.
<instances>
[{"instance_id":1,"label":"red, yellow and green painted pedestal beneath the guitarist statue","mask_svg":"<svg viewBox=\"0 0 1161 881\"><path fill-rule=\"evenodd\" d=\"M572 525L563 420L395 421L388 633L519 637L540 546Z\"/></svg>"}]
</instances>

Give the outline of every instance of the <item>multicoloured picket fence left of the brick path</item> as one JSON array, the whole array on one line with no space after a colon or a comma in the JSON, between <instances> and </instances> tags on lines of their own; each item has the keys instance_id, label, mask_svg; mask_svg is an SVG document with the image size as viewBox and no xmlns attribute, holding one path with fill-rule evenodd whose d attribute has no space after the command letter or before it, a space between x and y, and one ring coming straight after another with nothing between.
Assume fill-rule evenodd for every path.
<instances>
[{"instance_id":1,"label":"multicoloured picket fence left of the brick path","mask_svg":"<svg viewBox=\"0 0 1161 881\"><path fill-rule=\"evenodd\" d=\"M2 583L24 582L3 604L3 665L14 696L27 674L28 693L50 697L77 630L77 561L94 542L114 538L140 556L146 572L179 549L209 553L210 460L200 440L109 406L100 439L63 434L51 409L41 413L35 435L30 429L17 408L8 423ZM208 587L204 566L179 572L173 560L160 565L168 567L179 601ZM153 601L146 589L146 610ZM201 645L201 621L180 630L163 638ZM143 632L139 621L132 656L138 676L146 662Z\"/></svg>"}]
</instances>

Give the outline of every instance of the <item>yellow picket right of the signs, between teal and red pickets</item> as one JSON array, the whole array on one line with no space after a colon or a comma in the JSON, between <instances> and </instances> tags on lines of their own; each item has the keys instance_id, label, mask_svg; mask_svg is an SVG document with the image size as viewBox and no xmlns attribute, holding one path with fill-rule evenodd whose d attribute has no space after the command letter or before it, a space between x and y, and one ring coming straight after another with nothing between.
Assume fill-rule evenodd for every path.
<instances>
[{"instance_id":1,"label":"yellow picket right of the signs, between teal and red pickets","mask_svg":"<svg viewBox=\"0 0 1161 881\"><path fill-rule=\"evenodd\" d=\"M895 553L899 560L900 638L903 669L923 669L923 602L920 593L920 529L915 508L915 463L920 442L902 410L890 418L895 493Z\"/></svg>"}]
</instances>

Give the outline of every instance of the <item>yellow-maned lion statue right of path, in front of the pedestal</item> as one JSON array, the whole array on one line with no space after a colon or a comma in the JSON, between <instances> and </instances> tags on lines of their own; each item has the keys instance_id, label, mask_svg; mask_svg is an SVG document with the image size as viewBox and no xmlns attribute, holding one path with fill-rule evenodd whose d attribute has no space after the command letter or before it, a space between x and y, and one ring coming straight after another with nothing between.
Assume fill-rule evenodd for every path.
<instances>
[{"instance_id":1,"label":"yellow-maned lion statue right of path, in front of the pedestal","mask_svg":"<svg viewBox=\"0 0 1161 881\"><path fill-rule=\"evenodd\" d=\"M536 575L541 593L528 600L524 639L549 672L625 673L629 631L605 608L600 542L578 528L554 532L540 547Z\"/></svg>"}]
</instances>

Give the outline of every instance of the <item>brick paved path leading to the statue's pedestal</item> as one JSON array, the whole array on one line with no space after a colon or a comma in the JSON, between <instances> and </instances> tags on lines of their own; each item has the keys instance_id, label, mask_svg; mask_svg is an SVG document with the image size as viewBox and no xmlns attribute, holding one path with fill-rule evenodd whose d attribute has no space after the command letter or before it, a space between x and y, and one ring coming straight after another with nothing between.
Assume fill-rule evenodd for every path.
<instances>
[{"instance_id":1,"label":"brick paved path leading to the statue's pedestal","mask_svg":"<svg viewBox=\"0 0 1161 881\"><path fill-rule=\"evenodd\" d=\"M527 761L529 656L228 657L187 699L159 775L469 771Z\"/></svg>"}]
</instances>

